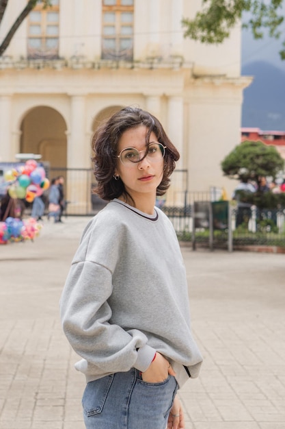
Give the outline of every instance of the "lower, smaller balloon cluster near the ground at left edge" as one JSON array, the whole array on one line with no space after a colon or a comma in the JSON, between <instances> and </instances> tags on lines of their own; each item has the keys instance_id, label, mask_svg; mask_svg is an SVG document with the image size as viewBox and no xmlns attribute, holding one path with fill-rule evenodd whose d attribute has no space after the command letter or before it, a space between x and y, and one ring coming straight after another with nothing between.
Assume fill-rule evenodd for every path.
<instances>
[{"instance_id":1,"label":"lower, smaller balloon cluster near the ground at left edge","mask_svg":"<svg viewBox=\"0 0 285 429\"><path fill-rule=\"evenodd\" d=\"M21 221L15 217L8 217L5 222L0 222L0 244L6 244L9 241L33 240L38 236L40 228L36 219Z\"/></svg>"}]
</instances>

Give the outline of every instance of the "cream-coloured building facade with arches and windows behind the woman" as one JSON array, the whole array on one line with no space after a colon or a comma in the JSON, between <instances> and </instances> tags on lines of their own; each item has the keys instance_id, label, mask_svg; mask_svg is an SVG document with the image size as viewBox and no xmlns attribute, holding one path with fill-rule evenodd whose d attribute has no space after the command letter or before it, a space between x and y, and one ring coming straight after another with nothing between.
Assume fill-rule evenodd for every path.
<instances>
[{"instance_id":1,"label":"cream-coloured building facade with arches and windows behind the woman","mask_svg":"<svg viewBox=\"0 0 285 429\"><path fill-rule=\"evenodd\" d=\"M0 40L26 3L8 3ZM88 169L100 120L135 105L158 117L180 151L187 183L176 174L173 204L185 188L230 192L220 162L240 142L251 82L240 75L240 27L219 47L201 45L181 27L201 0L51 3L38 1L0 58L0 160L40 154L51 167ZM70 175L67 186L72 200L78 180Z\"/></svg>"}]
</instances>

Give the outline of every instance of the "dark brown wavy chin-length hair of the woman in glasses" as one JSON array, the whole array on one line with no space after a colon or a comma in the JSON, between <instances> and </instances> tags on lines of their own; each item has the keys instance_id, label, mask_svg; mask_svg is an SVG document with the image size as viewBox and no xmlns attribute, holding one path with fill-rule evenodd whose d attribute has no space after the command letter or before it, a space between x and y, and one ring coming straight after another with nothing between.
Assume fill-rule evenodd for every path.
<instances>
[{"instance_id":1,"label":"dark brown wavy chin-length hair of the woman in glasses","mask_svg":"<svg viewBox=\"0 0 285 429\"><path fill-rule=\"evenodd\" d=\"M113 175L116 171L116 162L118 162L116 156L122 134L130 128L139 127L139 125L144 125L148 130L146 134L147 144L149 143L151 132L154 132L159 143L166 146L163 178L157 187L157 195L164 195L169 188L169 177L175 169L175 162L179 159L178 150L169 140L163 130L163 126L156 117L146 112L146 110L126 107L99 125L92 138L92 149L94 151L92 162L97 182L94 193L97 193L100 198L110 201L121 195L130 197L122 180L120 178L115 180Z\"/></svg>"}]
</instances>

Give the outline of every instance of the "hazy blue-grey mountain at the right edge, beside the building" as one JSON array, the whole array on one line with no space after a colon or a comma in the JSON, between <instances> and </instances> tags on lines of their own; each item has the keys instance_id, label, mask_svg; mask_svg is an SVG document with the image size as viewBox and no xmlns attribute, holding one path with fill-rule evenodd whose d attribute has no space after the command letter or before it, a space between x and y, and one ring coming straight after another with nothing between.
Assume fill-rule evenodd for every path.
<instances>
[{"instance_id":1,"label":"hazy blue-grey mountain at the right edge, beside the building","mask_svg":"<svg viewBox=\"0 0 285 429\"><path fill-rule=\"evenodd\" d=\"M245 64L241 74L254 76L243 92L242 127L285 131L285 71L256 61Z\"/></svg>"}]
</instances>

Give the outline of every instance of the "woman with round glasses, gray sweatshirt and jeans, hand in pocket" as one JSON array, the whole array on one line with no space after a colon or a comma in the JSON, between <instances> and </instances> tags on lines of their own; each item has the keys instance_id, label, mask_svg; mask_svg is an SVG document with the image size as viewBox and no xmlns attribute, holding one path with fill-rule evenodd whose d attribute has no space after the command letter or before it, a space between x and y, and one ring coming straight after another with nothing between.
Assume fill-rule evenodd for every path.
<instances>
[{"instance_id":1,"label":"woman with round glasses, gray sweatshirt and jeans, hand in pocket","mask_svg":"<svg viewBox=\"0 0 285 429\"><path fill-rule=\"evenodd\" d=\"M64 332L83 358L87 429L184 428L176 391L198 376L185 267L156 197L179 154L159 121L124 108L92 140L97 193L61 299Z\"/></svg>"}]
</instances>

